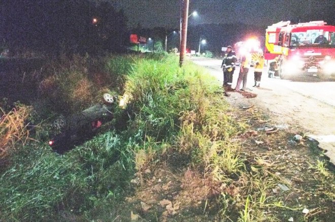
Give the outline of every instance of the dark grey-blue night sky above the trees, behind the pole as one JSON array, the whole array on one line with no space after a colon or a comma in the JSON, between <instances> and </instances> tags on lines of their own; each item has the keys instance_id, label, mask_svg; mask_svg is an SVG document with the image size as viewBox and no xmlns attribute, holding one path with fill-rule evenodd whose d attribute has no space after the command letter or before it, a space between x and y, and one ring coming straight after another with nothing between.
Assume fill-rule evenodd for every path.
<instances>
[{"instance_id":1,"label":"dark grey-blue night sky above the trees, behind the pole","mask_svg":"<svg viewBox=\"0 0 335 222\"><path fill-rule=\"evenodd\" d=\"M129 27L138 23L146 28L178 27L179 0L110 1L124 10ZM335 0L190 0L189 10L199 13L189 19L189 25L240 22L267 26L282 20L335 23Z\"/></svg>"}]
</instances>

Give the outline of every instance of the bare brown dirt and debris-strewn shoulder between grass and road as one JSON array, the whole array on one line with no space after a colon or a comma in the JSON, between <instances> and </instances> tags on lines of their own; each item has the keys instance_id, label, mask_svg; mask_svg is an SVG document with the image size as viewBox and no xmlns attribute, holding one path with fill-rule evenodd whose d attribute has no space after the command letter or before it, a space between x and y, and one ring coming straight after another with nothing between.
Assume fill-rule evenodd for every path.
<instances>
[{"instance_id":1,"label":"bare brown dirt and debris-strewn shoulder between grass and road","mask_svg":"<svg viewBox=\"0 0 335 222\"><path fill-rule=\"evenodd\" d=\"M335 180L331 170L324 176L317 168L324 159L317 142L308 137L295 142L296 134L304 136L301 127L273 118L241 94L222 94L222 99L235 108L237 121L249 125L234 138L241 144L245 174L215 182L211 174L193 168L189 157L171 152L132 181L136 190L115 208L115 221L238 221L244 198L259 192L251 188L256 179L266 188L264 206L257 211L266 219L250 221L332 221ZM267 133L269 128L277 131Z\"/></svg>"}]
</instances>

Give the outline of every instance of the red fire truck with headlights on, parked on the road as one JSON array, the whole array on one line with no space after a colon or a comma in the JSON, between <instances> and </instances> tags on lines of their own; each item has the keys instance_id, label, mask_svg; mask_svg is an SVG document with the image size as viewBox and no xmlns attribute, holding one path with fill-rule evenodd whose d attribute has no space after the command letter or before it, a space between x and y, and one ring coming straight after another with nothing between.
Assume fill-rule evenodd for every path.
<instances>
[{"instance_id":1,"label":"red fire truck with headlights on, parked on the road","mask_svg":"<svg viewBox=\"0 0 335 222\"><path fill-rule=\"evenodd\" d=\"M276 60L281 78L335 74L335 26L324 21L279 22L266 29L266 60Z\"/></svg>"}]
</instances>

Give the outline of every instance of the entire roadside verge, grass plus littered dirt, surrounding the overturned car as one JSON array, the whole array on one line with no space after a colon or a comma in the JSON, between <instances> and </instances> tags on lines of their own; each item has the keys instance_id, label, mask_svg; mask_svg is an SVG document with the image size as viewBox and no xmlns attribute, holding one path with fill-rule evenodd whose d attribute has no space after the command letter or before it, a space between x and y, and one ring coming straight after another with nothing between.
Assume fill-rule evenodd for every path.
<instances>
[{"instance_id":1,"label":"entire roadside verge, grass plus littered dirt, surrounding the overturned car","mask_svg":"<svg viewBox=\"0 0 335 222\"><path fill-rule=\"evenodd\" d=\"M230 107L217 80L191 62L75 56L45 70L39 100L1 104L1 221L332 218L334 175L313 143L257 131L270 120ZM53 152L52 119L102 93L124 102L113 121L64 155Z\"/></svg>"}]
</instances>

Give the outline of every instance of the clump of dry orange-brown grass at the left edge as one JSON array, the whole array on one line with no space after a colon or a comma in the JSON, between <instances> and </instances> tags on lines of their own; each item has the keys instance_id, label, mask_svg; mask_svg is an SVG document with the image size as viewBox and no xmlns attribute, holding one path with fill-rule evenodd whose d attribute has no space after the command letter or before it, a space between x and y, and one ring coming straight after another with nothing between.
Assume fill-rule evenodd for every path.
<instances>
[{"instance_id":1,"label":"clump of dry orange-brown grass at the left edge","mask_svg":"<svg viewBox=\"0 0 335 222\"><path fill-rule=\"evenodd\" d=\"M15 144L25 145L29 138L29 131L25 120L28 118L31 107L20 106L10 112L0 108L0 158L6 157L11 150L15 150Z\"/></svg>"}]
</instances>

